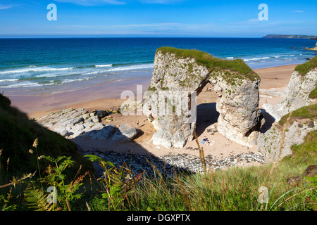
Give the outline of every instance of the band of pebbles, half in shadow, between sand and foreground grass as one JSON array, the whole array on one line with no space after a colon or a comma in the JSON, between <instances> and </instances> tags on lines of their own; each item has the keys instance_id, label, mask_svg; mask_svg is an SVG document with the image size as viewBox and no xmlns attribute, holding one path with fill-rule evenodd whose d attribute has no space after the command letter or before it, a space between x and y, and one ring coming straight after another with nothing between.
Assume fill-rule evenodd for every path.
<instances>
[{"instance_id":1,"label":"band of pebbles, half in shadow, between sand and foreground grass","mask_svg":"<svg viewBox=\"0 0 317 225\"><path fill-rule=\"evenodd\" d=\"M171 154L163 155L160 157L147 156L147 155L136 155L136 154L127 154L127 153L115 153L113 151L101 152L99 150L94 150L90 153L85 154L94 154L113 162L116 166L123 165L125 162L126 165L132 170L133 174L140 174L145 172L148 176L154 176L157 174L157 171L154 171L154 167L159 170L162 176L173 176L178 172L189 172L192 174L204 172L204 167L201 163L199 157L194 155L189 155L186 153L182 154ZM149 164L149 162L151 164ZM260 162L264 164L264 158L261 153L242 153L237 155L230 155L226 158L216 158L212 155L207 155L205 157L206 170L210 171L213 169L224 169L226 167L233 167L237 165L245 165L249 162ZM102 174L99 171L99 174Z\"/></svg>"}]
</instances>

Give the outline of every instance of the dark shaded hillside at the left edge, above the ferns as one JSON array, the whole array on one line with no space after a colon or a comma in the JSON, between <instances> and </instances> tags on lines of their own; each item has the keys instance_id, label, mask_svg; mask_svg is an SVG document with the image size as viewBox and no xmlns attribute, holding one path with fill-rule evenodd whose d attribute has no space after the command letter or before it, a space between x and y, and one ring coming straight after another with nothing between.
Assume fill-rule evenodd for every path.
<instances>
[{"instance_id":1,"label":"dark shaded hillside at the left edge, above the ferns","mask_svg":"<svg viewBox=\"0 0 317 225\"><path fill-rule=\"evenodd\" d=\"M51 156L71 156L75 161L73 169L82 165L82 170L94 171L92 163L80 155L75 143L65 139L49 129L37 124L34 120L29 120L25 113L17 108L11 107L11 101L0 94L0 169L7 169L15 173L30 173L37 170L37 158L35 153L30 153L33 142L38 139L38 155ZM8 165L7 165L8 162ZM47 163L39 160L41 169L46 169ZM84 172L85 172L84 171Z\"/></svg>"}]
</instances>

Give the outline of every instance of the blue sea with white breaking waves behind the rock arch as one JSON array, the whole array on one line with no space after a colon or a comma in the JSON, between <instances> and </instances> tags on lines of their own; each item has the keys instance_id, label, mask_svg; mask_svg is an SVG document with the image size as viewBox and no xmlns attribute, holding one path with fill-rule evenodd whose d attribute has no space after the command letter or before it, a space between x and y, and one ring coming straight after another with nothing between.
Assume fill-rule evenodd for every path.
<instances>
[{"instance_id":1,"label":"blue sea with white breaking waves behind the rock arch","mask_svg":"<svg viewBox=\"0 0 317 225\"><path fill-rule=\"evenodd\" d=\"M56 93L103 82L151 78L156 49L172 46L241 58L252 69L301 64L310 39L44 38L0 39L0 92ZM25 92L27 93L27 92Z\"/></svg>"}]
</instances>

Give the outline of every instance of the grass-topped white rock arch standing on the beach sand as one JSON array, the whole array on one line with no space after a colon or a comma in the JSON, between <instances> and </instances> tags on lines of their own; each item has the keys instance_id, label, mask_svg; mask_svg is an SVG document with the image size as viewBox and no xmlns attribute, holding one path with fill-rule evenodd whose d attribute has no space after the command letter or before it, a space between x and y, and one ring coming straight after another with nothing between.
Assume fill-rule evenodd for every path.
<instances>
[{"instance_id":1,"label":"grass-topped white rock arch standing on the beach sand","mask_svg":"<svg viewBox=\"0 0 317 225\"><path fill-rule=\"evenodd\" d=\"M218 131L232 141L256 146L261 120L260 78L243 60L221 60L197 50L157 49L144 114L157 132L153 143L182 148L194 139L196 96L207 83L218 96Z\"/></svg>"}]
</instances>

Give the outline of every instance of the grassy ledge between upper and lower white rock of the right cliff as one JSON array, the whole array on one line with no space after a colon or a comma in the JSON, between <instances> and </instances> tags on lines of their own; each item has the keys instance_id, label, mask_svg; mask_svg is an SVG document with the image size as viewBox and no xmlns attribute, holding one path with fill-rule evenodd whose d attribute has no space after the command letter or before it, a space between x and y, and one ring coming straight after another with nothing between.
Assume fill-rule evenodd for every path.
<instances>
[{"instance_id":1,"label":"grassy ledge between upper and lower white rock of the right cliff","mask_svg":"<svg viewBox=\"0 0 317 225\"><path fill-rule=\"evenodd\" d=\"M280 121L278 122L280 125L284 125L287 121L287 118L289 117L290 113L287 115L284 115ZM304 106L302 108L299 108L298 110L294 110L292 112L292 115L290 117L289 125L292 125L294 121L296 120L316 120L317 119L317 104Z\"/></svg>"}]
</instances>

